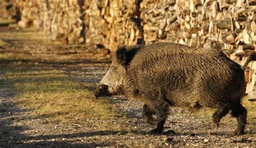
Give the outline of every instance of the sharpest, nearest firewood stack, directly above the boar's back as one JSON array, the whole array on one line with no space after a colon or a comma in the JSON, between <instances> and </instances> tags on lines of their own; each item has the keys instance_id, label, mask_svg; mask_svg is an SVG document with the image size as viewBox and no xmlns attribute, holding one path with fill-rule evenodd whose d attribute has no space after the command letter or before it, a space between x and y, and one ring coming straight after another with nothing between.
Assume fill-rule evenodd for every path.
<instances>
[{"instance_id":1,"label":"sharpest, nearest firewood stack, directly above the boar's back","mask_svg":"<svg viewBox=\"0 0 256 148\"><path fill-rule=\"evenodd\" d=\"M192 47L254 50L254 2L152 0L140 6L146 43L172 41Z\"/></svg>"}]
</instances>

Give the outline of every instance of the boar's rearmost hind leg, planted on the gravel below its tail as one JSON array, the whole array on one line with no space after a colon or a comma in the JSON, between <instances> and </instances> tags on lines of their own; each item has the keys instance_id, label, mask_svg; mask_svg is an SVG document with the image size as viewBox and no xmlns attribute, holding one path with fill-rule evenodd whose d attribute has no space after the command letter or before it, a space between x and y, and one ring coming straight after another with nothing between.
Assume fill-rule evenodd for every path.
<instances>
[{"instance_id":1,"label":"boar's rearmost hind leg, planted on the gravel below its tail","mask_svg":"<svg viewBox=\"0 0 256 148\"><path fill-rule=\"evenodd\" d=\"M247 110L239 103L231 109L231 115L237 118L237 129L234 135L241 135L245 129Z\"/></svg>"}]
</instances>

